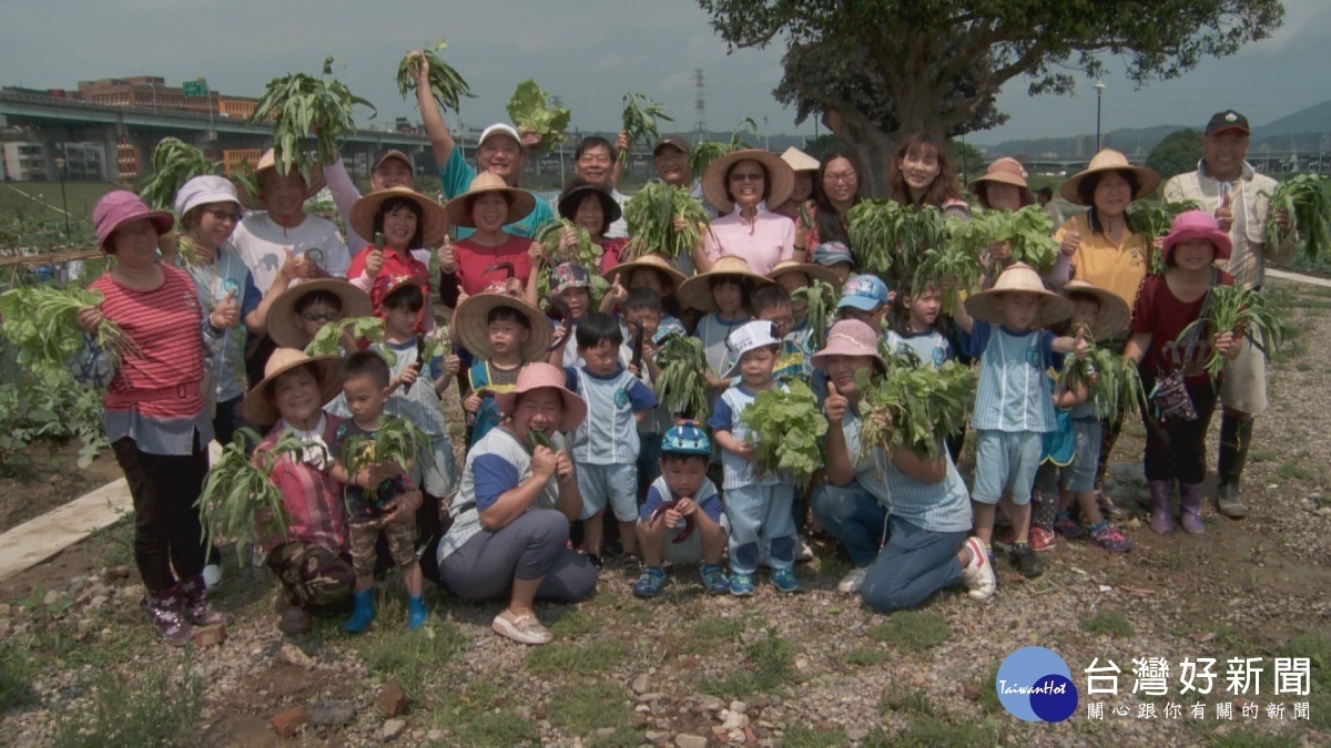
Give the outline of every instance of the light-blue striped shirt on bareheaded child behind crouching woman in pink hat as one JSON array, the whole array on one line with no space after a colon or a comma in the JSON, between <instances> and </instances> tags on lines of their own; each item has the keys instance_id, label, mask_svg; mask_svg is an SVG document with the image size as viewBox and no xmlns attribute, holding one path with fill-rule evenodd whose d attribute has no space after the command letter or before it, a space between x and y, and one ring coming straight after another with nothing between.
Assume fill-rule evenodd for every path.
<instances>
[{"instance_id":1,"label":"light-blue striped shirt on bareheaded child behind crouching woman in pink hat","mask_svg":"<svg viewBox=\"0 0 1331 748\"><path fill-rule=\"evenodd\" d=\"M564 367L568 390L587 401L587 418L574 430L578 465L632 465L638 462L638 419L634 414L656 407L656 395L638 377L620 367L610 377Z\"/></svg>"}]
</instances>

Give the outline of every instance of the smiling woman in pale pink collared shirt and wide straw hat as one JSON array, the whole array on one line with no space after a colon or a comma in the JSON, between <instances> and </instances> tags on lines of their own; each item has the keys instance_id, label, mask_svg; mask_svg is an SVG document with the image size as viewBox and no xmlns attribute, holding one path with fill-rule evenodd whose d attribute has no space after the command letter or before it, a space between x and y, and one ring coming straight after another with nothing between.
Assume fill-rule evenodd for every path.
<instances>
[{"instance_id":1,"label":"smiling woman in pale pink collared shirt and wide straw hat","mask_svg":"<svg viewBox=\"0 0 1331 748\"><path fill-rule=\"evenodd\" d=\"M791 197L795 172L775 153L736 150L721 156L703 174L703 194L721 213L693 249L693 264L707 273L721 256L735 256L765 276L783 260L803 262L795 250L795 221L773 213Z\"/></svg>"}]
</instances>

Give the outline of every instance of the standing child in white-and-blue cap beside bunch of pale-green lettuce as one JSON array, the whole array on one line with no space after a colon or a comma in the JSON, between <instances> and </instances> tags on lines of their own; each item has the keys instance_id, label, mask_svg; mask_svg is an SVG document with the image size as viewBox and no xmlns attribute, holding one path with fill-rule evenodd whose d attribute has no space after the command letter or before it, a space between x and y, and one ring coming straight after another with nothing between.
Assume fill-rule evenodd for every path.
<instances>
[{"instance_id":1,"label":"standing child in white-and-blue cap beside bunch of pale-green lettuce","mask_svg":"<svg viewBox=\"0 0 1331 748\"><path fill-rule=\"evenodd\" d=\"M773 334L771 322L749 322L731 333L729 345L739 355L731 371L737 381L712 409L707 425L721 446L731 595L753 594L753 572L764 551L777 591L799 592L803 587L795 576L795 484L781 474L757 475L749 430L740 421L759 393L780 386L772 379L772 370L781 341Z\"/></svg>"}]
</instances>

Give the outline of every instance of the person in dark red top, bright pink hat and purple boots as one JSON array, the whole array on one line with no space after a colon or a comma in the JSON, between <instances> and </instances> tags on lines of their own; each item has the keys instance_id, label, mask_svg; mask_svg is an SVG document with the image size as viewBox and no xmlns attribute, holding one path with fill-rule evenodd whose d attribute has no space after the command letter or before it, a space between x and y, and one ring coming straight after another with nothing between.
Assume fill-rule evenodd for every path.
<instances>
[{"instance_id":1,"label":"person in dark red top, bright pink hat and purple boots","mask_svg":"<svg viewBox=\"0 0 1331 748\"><path fill-rule=\"evenodd\" d=\"M1139 365L1142 387L1153 393L1162 378L1182 371L1187 397L1197 411L1194 421L1147 414L1146 480L1151 490L1151 530L1162 535L1174 528L1169 511L1174 479L1178 480L1183 531L1194 535L1206 531L1201 516L1206 431L1218 390L1205 365L1213 351L1233 359L1242 350L1242 341L1231 330L1201 330L1201 326L1182 341L1178 337L1183 327L1206 314L1213 286L1234 283L1233 276L1214 266L1217 260L1229 260L1233 249L1230 236L1214 216L1203 210L1179 213L1165 237L1169 269L1163 276L1147 276L1133 310L1133 337L1123 355Z\"/></svg>"}]
</instances>

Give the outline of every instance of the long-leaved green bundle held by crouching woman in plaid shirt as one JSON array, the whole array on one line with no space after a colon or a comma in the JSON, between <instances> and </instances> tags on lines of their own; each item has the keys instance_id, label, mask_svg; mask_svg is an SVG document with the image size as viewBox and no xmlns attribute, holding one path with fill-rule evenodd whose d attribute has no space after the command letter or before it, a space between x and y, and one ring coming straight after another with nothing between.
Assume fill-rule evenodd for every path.
<instances>
[{"instance_id":1,"label":"long-leaved green bundle held by crouching woman in plaid shirt","mask_svg":"<svg viewBox=\"0 0 1331 748\"><path fill-rule=\"evenodd\" d=\"M323 447L313 447L286 433L270 450L256 453L253 459L246 457L245 447L261 441L253 429L238 430L204 478L194 507L204 526L205 544L216 544L218 536L233 538L236 552L242 554L269 538L286 538L290 518L282 506L282 491L269 478L273 466L284 457L301 462L306 449Z\"/></svg>"}]
</instances>

